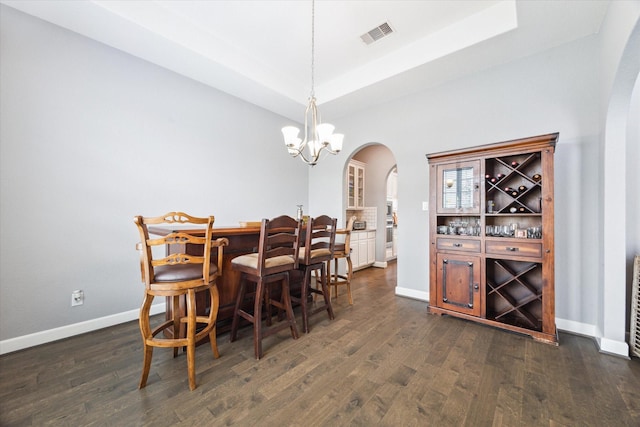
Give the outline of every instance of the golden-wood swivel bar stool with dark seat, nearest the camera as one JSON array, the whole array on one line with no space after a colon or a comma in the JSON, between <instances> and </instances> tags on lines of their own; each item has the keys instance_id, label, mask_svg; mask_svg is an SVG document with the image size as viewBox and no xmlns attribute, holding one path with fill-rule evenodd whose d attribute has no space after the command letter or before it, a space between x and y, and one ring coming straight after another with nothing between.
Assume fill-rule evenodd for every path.
<instances>
[{"instance_id":1,"label":"golden-wood swivel bar stool with dark seat, nearest the camera","mask_svg":"<svg viewBox=\"0 0 640 427\"><path fill-rule=\"evenodd\" d=\"M173 356L181 347L187 350L189 388L196 388L195 349L196 343L209 337L215 358L220 357L216 342L216 318L218 316L218 288L216 279L222 274L223 247L229 244L226 238L212 241L214 217L199 218L184 212L169 212L158 217L136 216L134 222L140 233L140 269L145 285L144 300L140 308L140 332L144 346L144 361L139 388L147 385L154 347L173 348ZM150 238L149 225L166 225L182 228L184 225L199 227L197 233L172 231L162 237ZM203 228L204 226L204 228ZM189 255L188 245L201 246L202 255ZM214 258L212 256L215 248ZM157 254L166 251L163 256ZM217 262L215 262L217 260ZM196 292L208 292L210 310L199 316L196 307ZM170 315L154 329L149 319L151 304L155 297L169 297ZM181 298L186 298L186 312L181 309ZM184 306L184 305L183 305ZM184 325L186 324L186 331ZM197 331L197 324L204 324Z\"/></svg>"}]
</instances>

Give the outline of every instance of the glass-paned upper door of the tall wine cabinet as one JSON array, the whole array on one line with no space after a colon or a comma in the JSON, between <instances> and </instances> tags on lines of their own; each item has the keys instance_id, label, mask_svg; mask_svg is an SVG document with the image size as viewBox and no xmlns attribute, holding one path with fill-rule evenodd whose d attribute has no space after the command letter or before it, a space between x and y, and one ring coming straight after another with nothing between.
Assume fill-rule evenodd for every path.
<instances>
[{"instance_id":1,"label":"glass-paned upper door of the tall wine cabinet","mask_svg":"<svg viewBox=\"0 0 640 427\"><path fill-rule=\"evenodd\" d=\"M480 213L480 161L438 165L436 212Z\"/></svg>"}]
</instances>

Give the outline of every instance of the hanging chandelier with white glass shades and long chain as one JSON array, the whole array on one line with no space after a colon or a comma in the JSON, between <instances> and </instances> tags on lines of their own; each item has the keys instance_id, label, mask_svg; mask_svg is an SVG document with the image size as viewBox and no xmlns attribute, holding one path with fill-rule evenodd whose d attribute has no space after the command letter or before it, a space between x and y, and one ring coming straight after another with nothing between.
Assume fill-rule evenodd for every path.
<instances>
[{"instance_id":1,"label":"hanging chandelier with white glass shades and long chain","mask_svg":"<svg viewBox=\"0 0 640 427\"><path fill-rule=\"evenodd\" d=\"M308 165L318 163L323 151L330 154L338 154L342 150L344 135L333 133L335 126L329 123L320 123L320 115L316 106L314 92L314 58L315 56L315 0L311 1L311 93L309 104L304 113L304 139L298 134L300 129L295 126L282 128L284 143L292 157L300 159Z\"/></svg>"}]
</instances>

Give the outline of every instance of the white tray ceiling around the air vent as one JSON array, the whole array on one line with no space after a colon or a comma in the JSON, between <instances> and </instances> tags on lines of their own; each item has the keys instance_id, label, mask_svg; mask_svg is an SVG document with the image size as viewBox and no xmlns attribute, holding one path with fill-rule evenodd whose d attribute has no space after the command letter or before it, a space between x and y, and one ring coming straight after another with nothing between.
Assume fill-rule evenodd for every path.
<instances>
[{"instance_id":1,"label":"white tray ceiling around the air vent","mask_svg":"<svg viewBox=\"0 0 640 427\"><path fill-rule=\"evenodd\" d=\"M0 0L291 120L311 90L311 1ZM598 32L610 1L315 4L323 116L353 113ZM361 35L388 23L371 44Z\"/></svg>"}]
</instances>

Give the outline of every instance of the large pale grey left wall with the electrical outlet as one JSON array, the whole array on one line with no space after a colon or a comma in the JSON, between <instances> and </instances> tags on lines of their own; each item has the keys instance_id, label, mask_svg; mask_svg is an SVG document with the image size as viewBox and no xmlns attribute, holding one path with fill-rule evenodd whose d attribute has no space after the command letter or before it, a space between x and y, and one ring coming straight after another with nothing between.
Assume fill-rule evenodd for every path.
<instances>
[{"instance_id":1,"label":"large pale grey left wall with the electrical outlet","mask_svg":"<svg viewBox=\"0 0 640 427\"><path fill-rule=\"evenodd\" d=\"M137 316L134 215L237 225L308 204L308 167L282 144L287 119L0 12L0 341ZM86 300L71 308L74 289Z\"/></svg>"}]
</instances>

